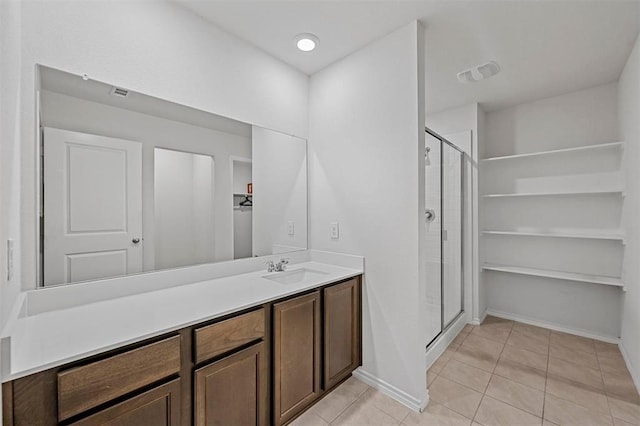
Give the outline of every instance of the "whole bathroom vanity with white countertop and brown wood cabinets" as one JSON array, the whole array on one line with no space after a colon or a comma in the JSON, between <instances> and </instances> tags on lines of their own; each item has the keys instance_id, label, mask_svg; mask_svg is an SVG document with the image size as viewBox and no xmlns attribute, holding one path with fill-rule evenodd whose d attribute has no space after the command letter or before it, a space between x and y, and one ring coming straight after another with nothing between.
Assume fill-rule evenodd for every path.
<instances>
[{"instance_id":1,"label":"whole bathroom vanity with white countertop and brown wood cabinets","mask_svg":"<svg viewBox=\"0 0 640 426\"><path fill-rule=\"evenodd\" d=\"M23 312L4 425L287 424L361 363L361 274L310 261Z\"/></svg>"}]
</instances>

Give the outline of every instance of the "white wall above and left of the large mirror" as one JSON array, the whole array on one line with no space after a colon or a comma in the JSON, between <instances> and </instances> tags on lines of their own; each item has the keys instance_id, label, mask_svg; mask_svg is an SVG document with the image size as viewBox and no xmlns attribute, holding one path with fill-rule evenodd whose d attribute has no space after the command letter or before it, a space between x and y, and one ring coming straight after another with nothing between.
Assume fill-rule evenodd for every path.
<instances>
[{"instance_id":1,"label":"white wall above and left of the large mirror","mask_svg":"<svg viewBox=\"0 0 640 426\"><path fill-rule=\"evenodd\" d=\"M175 3L2 3L3 8L15 13L8 16L6 25L3 23L3 40L5 32L10 36L19 31L22 43L21 47L16 44L19 42L8 43L20 47L10 54L12 63L19 61L20 84L16 85L15 76L13 80L8 78L7 94L11 100L7 101L9 109L3 112L11 117L11 123L20 126L20 151L8 152L20 158L20 182L8 183L8 188L21 188L20 206L12 200L8 207L9 211L22 213L24 226L17 240L32 245L36 241L37 63L86 73L99 81L240 121L303 137L307 134L306 75ZM6 63L3 60L3 68ZM13 138L2 139L4 144ZM10 157L3 155L3 161L4 158ZM18 163L8 170L12 171L15 164ZM20 224L11 226L15 230ZM24 250L19 260L17 282L22 282L24 288L33 287L35 252ZM7 287L2 289L5 306L13 304L15 294Z\"/></svg>"}]
</instances>

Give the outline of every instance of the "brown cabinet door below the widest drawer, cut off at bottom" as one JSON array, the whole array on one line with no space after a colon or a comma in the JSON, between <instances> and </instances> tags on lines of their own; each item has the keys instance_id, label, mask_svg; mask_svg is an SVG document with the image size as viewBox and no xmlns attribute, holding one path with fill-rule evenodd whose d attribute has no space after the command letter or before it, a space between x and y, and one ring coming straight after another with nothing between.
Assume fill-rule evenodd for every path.
<instances>
[{"instance_id":1,"label":"brown cabinet door below the widest drawer, cut off at bottom","mask_svg":"<svg viewBox=\"0 0 640 426\"><path fill-rule=\"evenodd\" d=\"M180 379L153 388L72 424L74 426L178 426L180 424Z\"/></svg>"}]
</instances>

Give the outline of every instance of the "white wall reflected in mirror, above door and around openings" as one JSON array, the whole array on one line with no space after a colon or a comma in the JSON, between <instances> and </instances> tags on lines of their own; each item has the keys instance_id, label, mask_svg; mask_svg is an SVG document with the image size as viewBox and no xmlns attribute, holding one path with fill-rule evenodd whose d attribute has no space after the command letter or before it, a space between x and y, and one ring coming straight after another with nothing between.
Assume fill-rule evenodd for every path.
<instances>
[{"instance_id":1,"label":"white wall reflected in mirror, above door and around openings","mask_svg":"<svg viewBox=\"0 0 640 426\"><path fill-rule=\"evenodd\" d=\"M251 157L251 140L247 136L218 132L205 127L115 108L45 90L41 92L41 98L42 124L44 126L142 143L142 223L145 271L162 267L162 265L155 266L157 257L154 253L158 230L154 215L154 149L156 147L205 154L215 159L215 203L214 214L211 217L216 230L213 256L216 261L233 259L231 245L233 241L233 227L231 225L233 198L230 158L232 156ZM186 194L183 195L186 196ZM176 227L172 229L177 231ZM30 244L25 244L25 250L30 247L32 247ZM35 253L35 249L33 252ZM165 252L165 255L168 256L168 253ZM167 263L164 263L165 261ZM186 262L185 258L180 261L183 265L184 262ZM193 263L199 262L195 260ZM165 258L161 264L167 266L172 262ZM23 287L27 285L27 283L23 283Z\"/></svg>"}]
</instances>

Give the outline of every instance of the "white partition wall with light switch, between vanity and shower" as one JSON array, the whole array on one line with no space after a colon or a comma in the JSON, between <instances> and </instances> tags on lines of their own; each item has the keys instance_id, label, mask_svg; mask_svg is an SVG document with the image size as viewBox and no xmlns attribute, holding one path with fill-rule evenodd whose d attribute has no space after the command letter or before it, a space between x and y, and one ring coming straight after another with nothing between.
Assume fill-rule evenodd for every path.
<instances>
[{"instance_id":1,"label":"white partition wall with light switch, between vanity and shower","mask_svg":"<svg viewBox=\"0 0 640 426\"><path fill-rule=\"evenodd\" d=\"M314 74L309 126L312 248L364 255L362 371L414 406L427 395L423 43L414 22Z\"/></svg>"}]
</instances>

